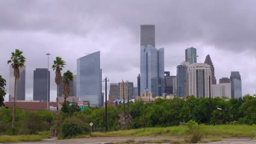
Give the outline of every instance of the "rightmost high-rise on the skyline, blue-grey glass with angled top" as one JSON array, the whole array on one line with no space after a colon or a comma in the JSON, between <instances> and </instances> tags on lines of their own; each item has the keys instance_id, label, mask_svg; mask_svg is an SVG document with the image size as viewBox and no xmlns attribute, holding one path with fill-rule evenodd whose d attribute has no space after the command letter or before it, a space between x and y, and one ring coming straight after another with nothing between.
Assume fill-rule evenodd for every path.
<instances>
[{"instance_id":1,"label":"rightmost high-rise on the skyline, blue-grey glass with angled top","mask_svg":"<svg viewBox=\"0 0 256 144\"><path fill-rule=\"evenodd\" d=\"M241 98L242 97L242 81L239 71L231 71L230 75L231 83L231 98Z\"/></svg>"}]
</instances>

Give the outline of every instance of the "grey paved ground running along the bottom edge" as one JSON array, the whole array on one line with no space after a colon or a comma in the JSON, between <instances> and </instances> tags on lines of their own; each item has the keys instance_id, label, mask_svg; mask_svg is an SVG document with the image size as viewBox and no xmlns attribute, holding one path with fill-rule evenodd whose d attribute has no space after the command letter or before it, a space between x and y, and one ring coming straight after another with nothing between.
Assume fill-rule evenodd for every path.
<instances>
[{"instance_id":1,"label":"grey paved ground running along the bottom edge","mask_svg":"<svg viewBox=\"0 0 256 144\"><path fill-rule=\"evenodd\" d=\"M126 141L130 139L135 139L136 141L142 140L162 140L162 139L170 139L170 140L181 140L179 137L167 137L167 136L157 136L157 137L91 137L91 138L80 138L80 139L69 139L69 140L55 140L55 139L45 139L44 141L37 141L37 142L22 142L22 144L32 144L32 143L47 143L47 144L58 144L58 143L75 143L75 144L82 144L82 143L110 143L110 142L120 142ZM250 139L222 139L223 141L220 142L209 142L215 144L255 144L256 140ZM167 142L169 143L169 142Z\"/></svg>"}]
</instances>

